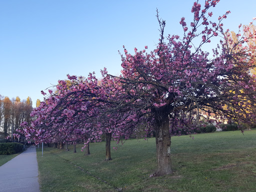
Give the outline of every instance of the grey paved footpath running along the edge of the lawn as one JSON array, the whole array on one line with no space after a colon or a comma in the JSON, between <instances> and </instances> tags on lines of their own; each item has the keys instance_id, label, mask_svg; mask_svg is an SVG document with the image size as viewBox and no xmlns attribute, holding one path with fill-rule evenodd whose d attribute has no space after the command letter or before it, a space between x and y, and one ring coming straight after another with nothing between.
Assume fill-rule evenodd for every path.
<instances>
[{"instance_id":1,"label":"grey paved footpath running along the edge of the lawn","mask_svg":"<svg viewBox=\"0 0 256 192\"><path fill-rule=\"evenodd\" d=\"M0 166L0 192L39 192L35 146Z\"/></svg>"}]
</instances>

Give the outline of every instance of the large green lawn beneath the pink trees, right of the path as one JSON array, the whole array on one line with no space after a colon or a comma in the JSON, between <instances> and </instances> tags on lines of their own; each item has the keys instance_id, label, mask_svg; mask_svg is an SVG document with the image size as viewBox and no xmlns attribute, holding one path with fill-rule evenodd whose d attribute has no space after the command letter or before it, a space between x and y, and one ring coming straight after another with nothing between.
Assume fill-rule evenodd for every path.
<instances>
[{"instance_id":1,"label":"large green lawn beneath the pink trees, right of the path","mask_svg":"<svg viewBox=\"0 0 256 192\"><path fill-rule=\"evenodd\" d=\"M131 139L104 161L105 142L90 143L88 156L37 149L41 191L256 191L256 130L171 137L174 173L156 169L155 139ZM111 146L116 146L115 142Z\"/></svg>"}]
</instances>

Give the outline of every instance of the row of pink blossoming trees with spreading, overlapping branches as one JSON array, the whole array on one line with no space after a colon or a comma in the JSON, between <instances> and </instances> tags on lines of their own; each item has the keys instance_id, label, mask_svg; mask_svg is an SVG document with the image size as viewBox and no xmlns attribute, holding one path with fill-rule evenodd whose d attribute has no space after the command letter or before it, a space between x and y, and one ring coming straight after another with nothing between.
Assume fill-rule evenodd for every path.
<instances>
[{"instance_id":1,"label":"row of pink blossoming trees with spreading, overlapping branches","mask_svg":"<svg viewBox=\"0 0 256 192\"><path fill-rule=\"evenodd\" d=\"M222 28L225 12L211 21L210 9L219 0L205 0L204 7L193 3L190 26L182 17L182 36L168 35L165 21L157 19L160 38L156 48L130 54L124 48L120 76L102 70L99 81L94 73L85 79L67 75L71 83L59 80L56 90L48 90L44 101L34 108L31 126L23 122L21 133L36 142L76 142L100 140L106 135L106 160L110 157L110 139L117 142L143 129L154 131L157 169L155 175L172 173L170 134L178 128L190 129L200 123L200 111L213 112L239 122L255 120L255 76L250 73L255 59L256 31L246 27L234 42ZM255 18L254 18L255 19ZM251 23L250 23L251 24ZM202 50L217 38L220 44L212 54ZM196 45L196 42L200 43ZM245 112L243 112L245 111Z\"/></svg>"}]
</instances>

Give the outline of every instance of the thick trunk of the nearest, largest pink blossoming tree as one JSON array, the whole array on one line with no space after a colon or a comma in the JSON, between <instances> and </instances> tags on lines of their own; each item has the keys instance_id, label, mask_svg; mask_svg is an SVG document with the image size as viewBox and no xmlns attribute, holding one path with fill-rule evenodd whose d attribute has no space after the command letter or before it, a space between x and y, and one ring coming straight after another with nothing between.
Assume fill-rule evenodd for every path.
<instances>
[{"instance_id":1,"label":"thick trunk of the nearest, largest pink blossoming tree","mask_svg":"<svg viewBox=\"0 0 256 192\"><path fill-rule=\"evenodd\" d=\"M157 170L156 175L171 174L169 118L165 116L155 127Z\"/></svg>"}]
</instances>

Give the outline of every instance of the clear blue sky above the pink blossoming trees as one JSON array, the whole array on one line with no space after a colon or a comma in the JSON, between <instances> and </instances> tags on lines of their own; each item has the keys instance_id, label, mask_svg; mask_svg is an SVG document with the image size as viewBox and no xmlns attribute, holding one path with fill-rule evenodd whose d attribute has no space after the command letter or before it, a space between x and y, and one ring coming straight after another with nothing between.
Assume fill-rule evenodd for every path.
<instances>
[{"instance_id":1,"label":"clear blue sky above the pink blossoming trees","mask_svg":"<svg viewBox=\"0 0 256 192\"><path fill-rule=\"evenodd\" d=\"M165 35L181 34L190 23L194 0L0 0L0 94L43 100L41 90L65 79L106 67L119 74L118 50L155 48L159 38L156 7L166 20ZM199 0L203 4L204 0ZM230 4L231 3L231 4ZM224 28L236 30L256 16L255 0L220 0Z\"/></svg>"}]
</instances>

